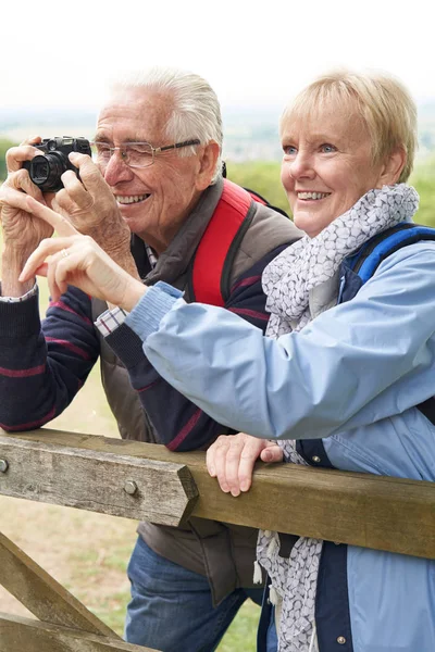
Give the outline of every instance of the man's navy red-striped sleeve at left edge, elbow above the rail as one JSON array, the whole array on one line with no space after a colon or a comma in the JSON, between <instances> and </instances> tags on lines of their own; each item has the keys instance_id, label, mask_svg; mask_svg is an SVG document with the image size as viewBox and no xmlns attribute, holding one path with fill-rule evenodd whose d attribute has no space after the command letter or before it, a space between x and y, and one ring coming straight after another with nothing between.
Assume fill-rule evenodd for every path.
<instances>
[{"instance_id":1,"label":"man's navy red-striped sleeve at left edge, elbow above the rail","mask_svg":"<svg viewBox=\"0 0 435 652\"><path fill-rule=\"evenodd\" d=\"M0 426L39 428L58 416L99 354L90 299L70 287L42 322L38 296L0 302Z\"/></svg>"}]
</instances>

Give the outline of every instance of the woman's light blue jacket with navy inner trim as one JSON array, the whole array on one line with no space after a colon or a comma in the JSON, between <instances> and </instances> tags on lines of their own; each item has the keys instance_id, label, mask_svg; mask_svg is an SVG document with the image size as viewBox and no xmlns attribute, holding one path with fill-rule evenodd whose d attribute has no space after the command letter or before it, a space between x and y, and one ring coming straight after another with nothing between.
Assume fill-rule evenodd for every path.
<instances>
[{"instance_id":1,"label":"woman's light blue jacket with navy inner trim","mask_svg":"<svg viewBox=\"0 0 435 652\"><path fill-rule=\"evenodd\" d=\"M220 423L321 439L321 465L434 480L435 426L415 409L435 388L434 254L434 242L395 252L351 301L278 340L164 284L127 324L156 369ZM326 543L321 573L321 652L434 652L435 561Z\"/></svg>"}]
</instances>

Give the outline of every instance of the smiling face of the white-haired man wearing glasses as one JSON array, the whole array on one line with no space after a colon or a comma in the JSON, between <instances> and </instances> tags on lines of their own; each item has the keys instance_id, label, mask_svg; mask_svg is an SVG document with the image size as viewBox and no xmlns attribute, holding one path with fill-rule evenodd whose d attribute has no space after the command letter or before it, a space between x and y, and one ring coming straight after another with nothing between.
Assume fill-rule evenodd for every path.
<instances>
[{"instance_id":1,"label":"smiling face of the white-haired man wearing glasses","mask_svg":"<svg viewBox=\"0 0 435 652\"><path fill-rule=\"evenodd\" d=\"M113 96L102 109L95 139L113 147L128 141L173 145L164 136L171 110L167 93L128 89ZM115 150L109 162L99 166L130 230L163 251L199 198L199 158L183 158L169 150L156 154L148 167L129 167Z\"/></svg>"}]
</instances>

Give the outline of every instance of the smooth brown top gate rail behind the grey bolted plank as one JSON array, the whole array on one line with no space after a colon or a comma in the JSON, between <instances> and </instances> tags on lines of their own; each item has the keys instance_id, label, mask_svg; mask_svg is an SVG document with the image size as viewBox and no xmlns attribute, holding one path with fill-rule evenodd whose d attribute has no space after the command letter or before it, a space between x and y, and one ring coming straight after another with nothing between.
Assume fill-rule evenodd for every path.
<instances>
[{"instance_id":1,"label":"smooth brown top gate rail behind the grey bolted plank","mask_svg":"<svg viewBox=\"0 0 435 652\"><path fill-rule=\"evenodd\" d=\"M14 437L185 464L199 491L195 516L435 559L433 482L259 464L252 489L233 498L209 476L202 452L48 429Z\"/></svg>"}]
</instances>

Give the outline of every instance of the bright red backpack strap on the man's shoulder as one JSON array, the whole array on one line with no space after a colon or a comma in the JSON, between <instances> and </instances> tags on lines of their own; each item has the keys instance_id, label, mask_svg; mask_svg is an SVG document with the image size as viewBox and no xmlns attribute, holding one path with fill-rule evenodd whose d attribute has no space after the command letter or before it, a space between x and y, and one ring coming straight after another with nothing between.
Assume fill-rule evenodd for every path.
<instances>
[{"instance_id":1,"label":"bright red backpack strap on the man's shoulder","mask_svg":"<svg viewBox=\"0 0 435 652\"><path fill-rule=\"evenodd\" d=\"M253 215L249 192L224 179L224 189L195 254L189 293L192 301L225 305L231 267Z\"/></svg>"}]
</instances>

